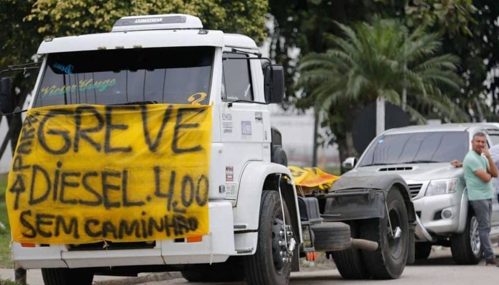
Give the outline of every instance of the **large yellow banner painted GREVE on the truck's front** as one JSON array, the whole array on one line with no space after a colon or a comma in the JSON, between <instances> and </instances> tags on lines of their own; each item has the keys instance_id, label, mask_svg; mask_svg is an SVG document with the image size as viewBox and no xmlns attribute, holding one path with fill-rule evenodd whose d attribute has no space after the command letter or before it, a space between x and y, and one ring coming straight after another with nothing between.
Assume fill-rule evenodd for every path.
<instances>
[{"instance_id":1,"label":"large yellow banner painted GREVE on the truck's front","mask_svg":"<svg viewBox=\"0 0 499 285\"><path fill-rule=\"evenodd\" d=\"M212 108L30 109L8 176L12 239L132 242L208 234Z\"/></svg>"}]
</instances>

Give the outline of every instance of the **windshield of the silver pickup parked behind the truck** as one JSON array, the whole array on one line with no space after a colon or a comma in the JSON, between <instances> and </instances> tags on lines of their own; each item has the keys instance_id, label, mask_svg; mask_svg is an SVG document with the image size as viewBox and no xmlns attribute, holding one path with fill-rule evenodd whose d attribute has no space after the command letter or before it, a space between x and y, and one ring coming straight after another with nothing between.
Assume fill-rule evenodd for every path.
<instances>
[{"instance_id":1,"label":"windshield of the silver pickup parked behind the truck","mask_svg":"<svg viewBox=\"0 0 499 285\"><path fill-rule=\"evenodd\" d=\"M365 151L359 167L403 163L463 161L468 132L424 132L381 136Z\"/></svg>"}]
</instances>

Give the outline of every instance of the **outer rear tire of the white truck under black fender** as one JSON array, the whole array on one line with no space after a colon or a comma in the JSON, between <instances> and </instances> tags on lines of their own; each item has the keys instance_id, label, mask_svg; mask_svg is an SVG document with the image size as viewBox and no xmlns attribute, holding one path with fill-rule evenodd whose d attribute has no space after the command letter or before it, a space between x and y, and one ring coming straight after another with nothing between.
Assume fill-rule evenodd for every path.
<instances>
[{"instance_id":1,"label":"outer rear tire of the white truck under black fender","mask_svg":"<svg viewBox=\"0 0 499 285\"><path fill-rule=\"evenodd\" d=\"M398 188L392 187L386 197L386 205L393 230L400 227L397 239L389 238L388 215L383 219L368 219L362 223L362 239L375 241L379 247L374 252L362 251L364 263L374 279L396 279L404 272L409 255L409 223L404 198Z\"/></svg>"}]
</instances>

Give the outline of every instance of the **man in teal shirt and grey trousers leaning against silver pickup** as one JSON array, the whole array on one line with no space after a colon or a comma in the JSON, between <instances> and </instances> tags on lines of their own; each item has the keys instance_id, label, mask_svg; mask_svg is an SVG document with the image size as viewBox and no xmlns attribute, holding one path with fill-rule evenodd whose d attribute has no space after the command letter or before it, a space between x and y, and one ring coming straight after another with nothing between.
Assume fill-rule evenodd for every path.
<instances>
[{"instance_id":1,"label":"man in teal shirt and grey trousers leaning against silver pickup","mask_svg":"<svg viewBox=\"0 0 499 285\"><path fill-rule=\"evenodd\" d=\"M472 150L468 152L463 161L468 200L477 217L480 243L486 258L486 265L499 266L490 238L492 198L494 198L491 180L493 177L498 177L498 168L486 148L487 138L484 133L475 133L471 144Z\"/></svg>"}]
</instances>

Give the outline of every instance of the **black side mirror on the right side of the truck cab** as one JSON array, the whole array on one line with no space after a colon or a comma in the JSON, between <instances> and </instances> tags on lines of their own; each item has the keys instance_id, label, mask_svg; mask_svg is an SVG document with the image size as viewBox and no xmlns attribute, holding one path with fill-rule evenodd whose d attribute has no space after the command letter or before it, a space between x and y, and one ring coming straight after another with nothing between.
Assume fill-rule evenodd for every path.
<instances>
[{"instance_id":1,"label":"black side mirror on the right side of the truck cab","mask_svg":"<svg viewBox=\"0 0 499 285\"><path fill-rule=\"evenodd\" d=\"M265 101L280 103L284 98L284 69L282 65L267 65L263 78Z\"/></svg>"}]
</instances>

